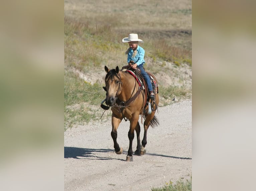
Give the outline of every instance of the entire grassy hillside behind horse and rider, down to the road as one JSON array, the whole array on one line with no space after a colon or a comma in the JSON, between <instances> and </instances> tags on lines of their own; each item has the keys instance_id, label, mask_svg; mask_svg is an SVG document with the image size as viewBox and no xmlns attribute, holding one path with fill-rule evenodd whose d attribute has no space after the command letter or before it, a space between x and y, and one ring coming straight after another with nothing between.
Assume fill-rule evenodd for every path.
<instances>
[{"instance_id":1,"label":"entire grassy hillside behind horse and rider, down to the road","mask_svg":"<svg viewBox=\"0 0 256 191\"><path fill-rule=\"evenodd\" d=\"M191 70L191 1L65 0L64 12L65 129L100 118L103 68L126 65L128 45L122 39L129 33L144 41L140 44L145 49L144 66L159 76L161 104L191 96L191 87L166 85L160 78L175 76L183 82L180 71ZM94 73L97 82L83 80L74 71Z\"/></svg>"}]
</instances>

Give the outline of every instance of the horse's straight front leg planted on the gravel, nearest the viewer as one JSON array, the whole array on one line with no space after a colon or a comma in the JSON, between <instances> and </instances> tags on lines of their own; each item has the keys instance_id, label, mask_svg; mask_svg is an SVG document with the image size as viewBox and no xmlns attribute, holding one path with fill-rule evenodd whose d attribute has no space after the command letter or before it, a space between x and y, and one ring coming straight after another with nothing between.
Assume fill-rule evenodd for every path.
<instances>
[{"instance_id":1,"label":"horse's straight front leg planted on the gravel, nearest the viewer","mask_svg":"<svg viewBox=\"0 0 256 191\"><path fill-rule=\"evenodd\" d=\"M134 139L134 129L138 123L139 115L134 115L134 117L130 120L130 130L128 132L128 138L129 138L129 149L128 149L128 155L126 156L126 161L133 161L132 159L132 141Z\"/></svg>"}]
</instances>

